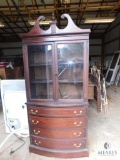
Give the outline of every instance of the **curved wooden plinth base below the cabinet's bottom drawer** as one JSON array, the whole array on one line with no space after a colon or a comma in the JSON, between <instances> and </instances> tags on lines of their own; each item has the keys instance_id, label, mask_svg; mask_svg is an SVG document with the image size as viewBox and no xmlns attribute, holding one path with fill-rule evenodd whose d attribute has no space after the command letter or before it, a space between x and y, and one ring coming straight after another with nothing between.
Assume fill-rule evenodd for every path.
<instances>
[{"instance_id":1,"label":"curved wooden plinth base below the cabinet's bottom drawer","mask_svg":"<svg viewBox=\"0 0 120 160\"><path fill-rule=\"evenodd\" d=\"M55 158L80 158L89 156L87 148L77 150L53 150L30 145L29 151L35 154L39 154L41 156Z\"/></svg>"}]
</instances>

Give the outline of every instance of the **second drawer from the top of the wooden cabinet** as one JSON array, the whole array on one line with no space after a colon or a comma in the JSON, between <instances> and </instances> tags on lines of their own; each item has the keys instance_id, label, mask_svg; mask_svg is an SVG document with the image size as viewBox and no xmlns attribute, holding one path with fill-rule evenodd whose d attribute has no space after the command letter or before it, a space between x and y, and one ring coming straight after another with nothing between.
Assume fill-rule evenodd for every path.
<instances>
[{"instance_id":1,"label":"second drawer from the top of the wooden cabinet","mask_svg":"<svg viewBox=\"0 0 120 160\"><path fill-rule=\"evenodd\" d=\"M41 128L79 128L86 127L87 118L46 118L29 115L29 123Z\"/></svg>"}]
</instances>

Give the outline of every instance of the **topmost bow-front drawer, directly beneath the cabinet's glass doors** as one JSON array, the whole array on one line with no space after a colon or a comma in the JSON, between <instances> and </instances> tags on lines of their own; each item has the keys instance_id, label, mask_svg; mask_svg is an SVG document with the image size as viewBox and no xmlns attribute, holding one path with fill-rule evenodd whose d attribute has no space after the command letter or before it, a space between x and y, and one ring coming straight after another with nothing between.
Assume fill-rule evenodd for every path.
<instances>
[{"instance_id":1,"label":"topmost bow-front drawer, directly beneath the cabinet's glass doors","mask_svg":"<svg viewBox=\"0 0 120 160\"><path fill-rule=\"evenodd\" d=\"M72 108L47 108L47 107L28 107L28 113L31 115L47 116L47 117L76 117L85 116L86 107Z\"/></svg>"}]
</instances>

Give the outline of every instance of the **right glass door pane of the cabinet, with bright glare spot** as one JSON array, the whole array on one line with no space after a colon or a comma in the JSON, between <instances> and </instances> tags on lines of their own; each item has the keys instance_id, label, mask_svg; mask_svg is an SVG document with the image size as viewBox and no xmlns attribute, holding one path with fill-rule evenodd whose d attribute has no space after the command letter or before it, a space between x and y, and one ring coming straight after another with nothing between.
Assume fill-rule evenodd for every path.
<instances>
[{"instance_id":1,"label":"right glass door pane of the cabinet, with bright glare spot","mask_svg":"<svg viewBox=\"0 0 120 160\"><path fill-rule=\"evenodd\" d=\"M83 98L83 43L58 44L60 99Z\"/></svg>"}]
</instances>

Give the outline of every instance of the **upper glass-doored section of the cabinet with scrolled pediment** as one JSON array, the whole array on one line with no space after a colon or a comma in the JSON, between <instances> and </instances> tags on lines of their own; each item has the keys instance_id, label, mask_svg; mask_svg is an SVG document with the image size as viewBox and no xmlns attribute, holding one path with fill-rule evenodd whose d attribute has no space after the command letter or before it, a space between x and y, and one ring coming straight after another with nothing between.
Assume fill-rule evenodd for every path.
<instances>
[{"instance_id":1,"label":"upper glass-doored section of the cabinet with scrolled pediment","mask_svg":"<svg viewBox=\"0 0 120 160\"><path fill-rule=\"evenodd\" d=\"M44 31L39 27L43 18L29 33L21 34L28 99L87 100L90 30L78 28L64 14L66 28L58 29L52 18Z\"/></svg>"}]
</instances>

